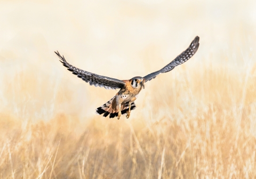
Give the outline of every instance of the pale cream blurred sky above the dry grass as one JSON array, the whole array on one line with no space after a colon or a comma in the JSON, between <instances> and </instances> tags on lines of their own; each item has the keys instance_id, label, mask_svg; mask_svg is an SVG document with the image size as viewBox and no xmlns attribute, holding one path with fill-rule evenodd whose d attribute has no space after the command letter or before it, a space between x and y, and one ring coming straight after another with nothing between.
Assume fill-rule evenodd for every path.
<instances>
[{"instance_id":1,"label":"pale cream blurred sky above the dry grass","mask_svg":"<svg viewBox=\"0 0 256 179\"><path fill-rule=\"evenodd\" d=\"M255 64L255 1L1 1L0 17L0 112L21 119L95 117L117 93L72 75L57 50L75 67L130 79L164 67L199 36L192 59L146 84L140 108L150 86L186 70Z\"/></svg>"}]
</instances>

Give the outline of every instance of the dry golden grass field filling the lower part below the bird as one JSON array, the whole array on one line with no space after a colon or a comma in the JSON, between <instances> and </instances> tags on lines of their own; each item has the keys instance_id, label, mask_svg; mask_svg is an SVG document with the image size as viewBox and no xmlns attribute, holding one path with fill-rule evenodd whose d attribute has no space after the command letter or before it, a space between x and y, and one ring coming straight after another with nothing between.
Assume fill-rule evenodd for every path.
<instances>
[{"instance_id":1,"label":"dry golden grass field filling the lower part below the bird","mask_svg":"<svg viewBox=\"0 0 256 179\"><path fill-rule=\"evenodd\" d=\"M179 95L166 87L162 104L136 109L157 121L132 113L131 119L97 116L81 123L62 113L18 123L2 113L0 177L254 178L256 76L213 67L203 72L189 80L180 74L172 82ZM162 108L166 115L156 115Z\"/></svg>"}]
</instances>

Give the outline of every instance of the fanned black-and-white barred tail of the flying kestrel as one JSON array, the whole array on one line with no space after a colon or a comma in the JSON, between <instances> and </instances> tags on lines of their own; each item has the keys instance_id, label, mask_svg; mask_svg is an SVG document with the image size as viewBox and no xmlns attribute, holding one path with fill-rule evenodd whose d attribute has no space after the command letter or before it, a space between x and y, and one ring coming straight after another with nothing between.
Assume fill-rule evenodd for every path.
<instances>
[{"instance_id":1,"label":"fanned black-and-white barred tail of the flying kestrel","mask_svg":"<svg viewBox=\"0 0 256 179\"><path fill-rule=\"evenodd\" d=\"M131 110L134 110L136 108L136 105L134 102L131 103ZM129 110L129 102L126 102L121 105L121 113L124 115L126 111ZM109 118L114 118L117 117L118 115L118 107L116 105L116 96L111 98L108 102L105 104L101 105L101 107L96 109L97 115L102 115L103 117L107 117L109 114Z\"/></svg>"}]
</instances>

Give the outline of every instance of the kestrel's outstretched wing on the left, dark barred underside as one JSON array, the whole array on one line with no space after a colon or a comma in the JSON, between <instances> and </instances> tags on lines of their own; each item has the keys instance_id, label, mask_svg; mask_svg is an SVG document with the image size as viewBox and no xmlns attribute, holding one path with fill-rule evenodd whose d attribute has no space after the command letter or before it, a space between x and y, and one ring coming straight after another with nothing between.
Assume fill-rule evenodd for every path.
<instances>
[{"instance_id":1,"label":"kestrel's outstretched wing on the left, dark barred underside","mask_svg":"<svg viewBox=\"0 0 256 179\"><path fill-rule=\"evenodd\" d=\"M90 85L105 87L106 89L113 90L116 88L122 88L125 85L125 83L122 80L92 74L91 72L84 71L74 66L71 66L71 64L69 64L65 60L64 56L61 56L58 51L55 53L59 56L60 62L63 63L63 66L67 67L68 70L72 71L74 75L77 75L77 77L82 78L86 83L89 82Z\"/></svg>"}]
</instances>

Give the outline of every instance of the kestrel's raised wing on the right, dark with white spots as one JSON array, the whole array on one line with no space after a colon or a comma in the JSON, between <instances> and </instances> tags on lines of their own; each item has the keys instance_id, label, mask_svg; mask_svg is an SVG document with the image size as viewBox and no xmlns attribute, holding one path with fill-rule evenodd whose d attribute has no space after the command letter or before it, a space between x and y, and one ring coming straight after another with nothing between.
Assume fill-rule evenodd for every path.
<instances>
[{"instance_id":1,"label":"kestrel's raised wing on the right, dark with white spots","mask_svg":"<svg viewBox=\"0 0 256 179\"><path fill-rule=\"evenodd\" d=\"M198 47L199 47L199 37L196 36L196 38L191 42L187 50L182 52L179 56L177 56L177 58L175 58L171 63L167 64L167 66L165 66L161 70L158 70L156 72L153 72L145 76L144 77L145 82L150 81L151 79L154 79L159 74L163 74L165 72L171 71L173 68L175 68L179 64L186 62L196 53Z\"/></svg>"}]
</instances>

